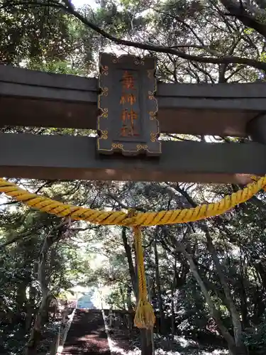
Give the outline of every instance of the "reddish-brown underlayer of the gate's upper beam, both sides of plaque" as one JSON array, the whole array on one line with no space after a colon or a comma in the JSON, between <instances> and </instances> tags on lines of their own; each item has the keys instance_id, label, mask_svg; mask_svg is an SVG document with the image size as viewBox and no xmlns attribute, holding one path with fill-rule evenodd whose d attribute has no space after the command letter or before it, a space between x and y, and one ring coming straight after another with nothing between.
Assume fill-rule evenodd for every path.
<instances>
[{"instance_id":1,"label":"reddish-brown underlayer of the gate's upper beam, both sides of plaque","mask_svg":"<svg viewBox=\"0 0 266 355\"><path fill-rule=\"evenodd\" d=\"M160 105L160 99L158 99ZM266 102L266 100L265 100ZM1 97L0 126L96 129L96 102ZM162 133L247 136L246 125L257 111L168 109L160 107Z\"/></svg>"}]
</instances>

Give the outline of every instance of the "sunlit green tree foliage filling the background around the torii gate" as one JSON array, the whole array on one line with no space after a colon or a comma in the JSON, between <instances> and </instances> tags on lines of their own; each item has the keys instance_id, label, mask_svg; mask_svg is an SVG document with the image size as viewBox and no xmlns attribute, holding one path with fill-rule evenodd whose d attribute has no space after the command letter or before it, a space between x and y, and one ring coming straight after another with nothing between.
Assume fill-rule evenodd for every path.
<instances>
[{"instance_id":1,"label":"sunlit green tree foliage filling the background around the torii gate","mask_svg":"<svg viewBox=\"0 0 266 355\"><path fill-rule=\"evenodd\" d=\"M61 1L59 1L62 4ZM177 47L183 53L220 57L236 55L265 61L264 39L253 28L245 28L235 17L223 16L218 1L99 1L94 11L79 9L85 19L117 38ZM240 64L211 65L190 62L179 56L111 45L103 36L84 26L77 18L52 6L22 6L0 1L0 62L59 74L97 75L99 51L157 56L157 77L165 82L252 82L263 73ZM184 46L184 47L182 47ZM2 131L34 134L90 135L89 130L28 129L7 127ZM194 140L202 137L174 135L164 139ZM227 142L238 138L225 138ZM221 138L223 140L223 138ZM125 206L144 211L190 207L192 202L212 202L238 188L159 182L94 182L17 180L24 187L49 197L96 209ZM113 198L114 197L114 198ZM29 328L23 313L34 316L42 293L38 283L38 261L43 241L60 219L26 209L4 200L0 213L0 347L1 354L23 354ZM245 344L252 351L265 349L266 253L265 197L223 217L209 219L208 230L218 261L244 329ZM165 332L202 339L209 343L220 337L210 317L210 307L196 283L184 254L182 242L195 263L221 322L233 334L228 300L214 257L206 244L204 225L165 226L145 229L145 267L149 293L157 317L163 313ZM154 241L157 239L158 261ZM133 236L126 231L133 267ZM96 255L101 258L97 259ZM91 226L74 222L50 247L45 265L48 288L55 297L67 297L75 285L104 285L110 289L106 300L117 308L135 304L128 250L121 228ZM132 270L131 270L132 271ZM135 269L134 269L135 271ZM159 279L157 279L159 271ZM162 307L161 307L162 306ZM32 320L31 324L32 325ZM52 323L49 324L52 327ZM204 338L205 339L205 338ZM43 343L42 343L43 345ZM1 345L2 346L2 345Z\"/></svg>"}]
</instances>

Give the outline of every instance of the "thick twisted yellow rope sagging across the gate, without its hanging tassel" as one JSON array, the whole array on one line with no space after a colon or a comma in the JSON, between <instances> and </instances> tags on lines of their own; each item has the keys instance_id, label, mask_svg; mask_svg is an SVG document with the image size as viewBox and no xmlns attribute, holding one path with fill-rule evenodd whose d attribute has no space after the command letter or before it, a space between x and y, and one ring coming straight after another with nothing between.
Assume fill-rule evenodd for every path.
<instances>
[{"instance_id":1,"label":"thick twisted yellow rope sagging across the gate, without its hanging tassel","mask_svg":"<svg viewBox=\"0 0 266 355\"><path fill-rule=\"evenodd\" d=\"M23 190L13 182L0 178L0 192L4 192L7 196L13 197L13 199L21 201L29 207L49 214L55 214L58 217L70 217L74 220L83 220L94 224L118 226L159 226L162 224L196 222L200 219L225 213L237 204L248 201L250 197L253 197L262 188L266 189L266 177L249 184L243 190L233 192L232 195L227 195L219 202L201 204L198 207L190 209L138 212L134 216L131 216L131 214L126 214L122 211L97 211L96 209L64 204Z\"/></svg>"}]
</instances>

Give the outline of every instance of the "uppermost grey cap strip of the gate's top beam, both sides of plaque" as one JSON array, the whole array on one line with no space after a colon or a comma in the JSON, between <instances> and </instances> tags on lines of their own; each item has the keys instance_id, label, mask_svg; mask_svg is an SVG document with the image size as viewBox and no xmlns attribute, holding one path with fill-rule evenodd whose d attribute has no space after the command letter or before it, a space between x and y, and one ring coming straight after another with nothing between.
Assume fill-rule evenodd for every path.
<instances>
[{"instance_id":1,"label":"uppermost grey cap strip of the gate's top beam, both sides of plaque","mask_svg":"<svg viewBox=\"0 0 266 355\"><path fill-rule=\"evenodd\" d=\"M95 77L40 72L9 65L0 65L0 82L97 92L97 79ZM265 87L265 82L244 84L166 84L160 82L157 95L159 97L205 97L207 99L210 97L263 99L266 97Z\"/></svg>"}]
</instances>

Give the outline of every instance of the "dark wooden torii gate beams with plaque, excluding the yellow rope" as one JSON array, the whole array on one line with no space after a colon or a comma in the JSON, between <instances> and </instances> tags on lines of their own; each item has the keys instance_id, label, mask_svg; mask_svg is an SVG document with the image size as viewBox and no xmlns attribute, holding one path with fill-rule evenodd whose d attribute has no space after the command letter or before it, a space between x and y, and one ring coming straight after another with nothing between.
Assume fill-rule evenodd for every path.
<instances>
[{"instance_id":1,"label":"dark wooden torii gate beams with plaque, excluding the yellow rope","mask_svg":"<svg viewBox=\"0 0 266 355\"><path fill-rule=\"evenodd\" d=\"M237 183L243 182L239 175L265 175L265 83L157 84L154 58L140 60L132 56L115 58L102 54L100 68L101 75L96 80L0 66L0 126L105 131L105 125L109 130L108 138L106 141L101 139L101 146L98 148L97 138L86 136L1 133L1 176L50 180ZM131 115L131 121L135 123L135 127L138 126L137 136L131 136L129 131L125 136L121 130L121 97L125 72L128 72L129 77L135 76L135 95L138 102L132 102L133 106L130 101L123 104L126 104L126 110L130 110L132 106L138 111L138 119ZM133 91L131 88L129 94L133 94ZM104 109L108 110L108 119ZM152 112L152 116L148 111ZM107 122L111 122L109 126L106 126ZM157 122L158 131L154 131ZM147 138L152 131L155 133L155 136L150 136L153 142ZM251 136L253 141L158 143L159 132ZM103 136L102 133L101 138ZM143 148L139 153L144 154L134 157L119 153L106 156L102 154L103 142L109 148L112 143L128 145L131 142L128 155L135 155L131 152L134 151L134 144L147 146L146 143L149 143L150 147L153 143L153 155L157 156L147 156L145 153L149 149ZM117 147L113 151L121 152Z\"/></svg>"}]
</instances>

